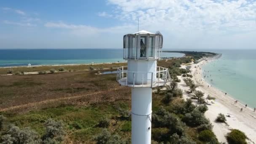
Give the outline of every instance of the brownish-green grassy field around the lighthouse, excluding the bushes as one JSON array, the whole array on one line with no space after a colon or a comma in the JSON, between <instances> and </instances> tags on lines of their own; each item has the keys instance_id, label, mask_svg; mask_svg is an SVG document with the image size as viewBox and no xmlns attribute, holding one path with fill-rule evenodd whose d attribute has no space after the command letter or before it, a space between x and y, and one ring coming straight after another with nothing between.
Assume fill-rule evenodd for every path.
<instances>
[{"instance_id":1,"label":"brownish-green grassy field around the lighthouse, excluding the bushes","mask_svg":"<svg viewBox=\"0 0 256 144\"><path fill-rule=\"evenodd\" d=\"M179 62L186 60L187 58L184 58ZM173 62L177 60L162 60L158 61L157 65L169 67ZM0 114L7 117L8 123L20 128L30 127L41 136L48 118L63 120L67 133L65 144L94 144L94 136L102 131L102 128L97 126L99 120L108 117L108 130L117 133L122 139L129 140L131 119L121 119L118 109L131 110L131 88L120 86L116 82L115 74L96 75L99 71L112 71L122 65L125 64L64 66L72 71L45 75L0 76ZM13 68L13 72L34 72L59 67L17 67ZM89 70L90 67L94 70ZM10 68L0 68L0 74L6 74L8 69ZM153 111L162 106L172 112L173 105L182 103L180 97L173 99L170 104L163 104L163 94L153 93L152 96ZM158 130L163 132L166 128L153 128L152 138ZM186 126L185 133L198 144L204 144L197 138L197 128Z\"/></svg>"}]
</instances>

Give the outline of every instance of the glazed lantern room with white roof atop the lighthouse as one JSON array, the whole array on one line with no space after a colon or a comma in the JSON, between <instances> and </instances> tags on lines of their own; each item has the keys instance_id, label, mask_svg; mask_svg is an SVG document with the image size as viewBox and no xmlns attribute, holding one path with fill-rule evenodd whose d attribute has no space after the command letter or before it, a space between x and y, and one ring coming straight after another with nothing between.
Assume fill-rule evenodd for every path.
<instances>
[{"instance_id":1,"label":"glazed lantern room with white roof atop the lighthouse","mask_svg":"<svg viewBox=\"0 0 256 144\"><path fill-rule=\"evenodd\" d=\"M145 30L123 36L123 58L156 60L160 58L163 36L160 32L153 34Z\"/></svg>"}]
</instances>

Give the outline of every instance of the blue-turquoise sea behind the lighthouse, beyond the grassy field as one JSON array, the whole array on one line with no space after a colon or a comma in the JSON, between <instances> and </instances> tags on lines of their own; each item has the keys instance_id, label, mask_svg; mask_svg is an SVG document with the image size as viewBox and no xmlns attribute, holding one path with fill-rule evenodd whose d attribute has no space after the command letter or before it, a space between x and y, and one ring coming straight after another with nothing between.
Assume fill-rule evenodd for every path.
<instances>
[{"instance_id":1,"label":"blue-turquoise sea behind the lighthouse, beyond the grassy field","mask_svg":"<svg viewBox=\"0 0 256 144\"><path fill-rule=\"evenodd\" d=\"M162 57L181 57L182 53L162 53ZM0 50L0 67L54 64L123 62L120 49L14 49Z\"/></svg>"}]
</instances>

